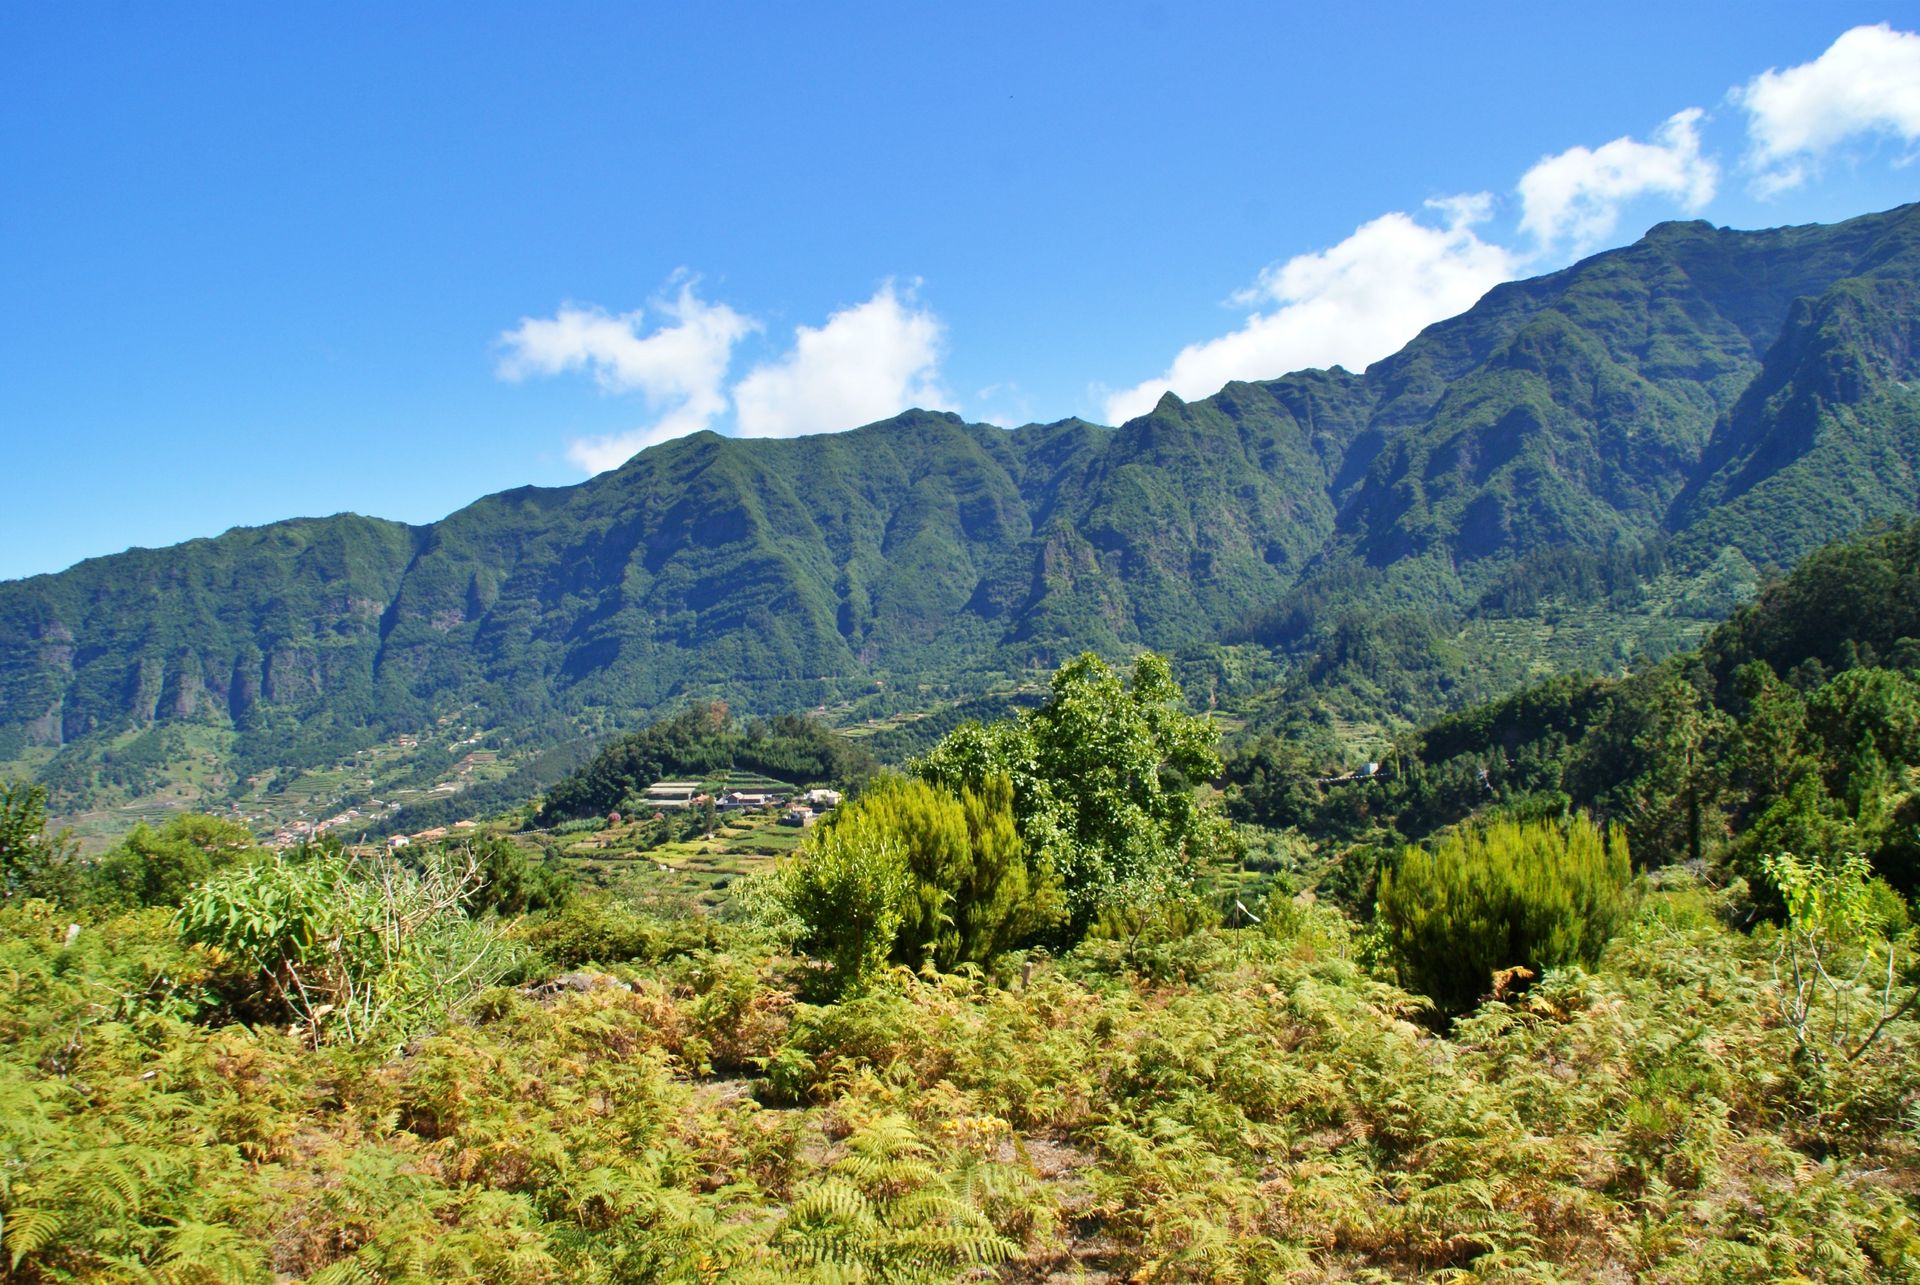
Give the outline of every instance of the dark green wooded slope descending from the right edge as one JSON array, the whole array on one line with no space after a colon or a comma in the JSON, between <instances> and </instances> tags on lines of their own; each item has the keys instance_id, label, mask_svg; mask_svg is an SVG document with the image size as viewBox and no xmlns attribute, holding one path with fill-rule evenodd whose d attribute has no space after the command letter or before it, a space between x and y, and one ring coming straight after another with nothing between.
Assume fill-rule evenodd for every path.
<instances>
[{"instance_id":1,"label":"dark green wooded slope descending from the right edge","mask_svg":"<svg viewBox=\"0 0 1920 1285\"><path fill-rule=\"evenodd\" d=\"M1753 876L1764 853L1860 851L1912 891L1920 524L1816 551L1699 651L1440 718L1371 780L1323 774L1311 749L1261 738L1227 763L1229 807L1380 855L1476 812L1592 811L1626 826L1645 864L1713 859Z\"/></svg>"}]
</instances>

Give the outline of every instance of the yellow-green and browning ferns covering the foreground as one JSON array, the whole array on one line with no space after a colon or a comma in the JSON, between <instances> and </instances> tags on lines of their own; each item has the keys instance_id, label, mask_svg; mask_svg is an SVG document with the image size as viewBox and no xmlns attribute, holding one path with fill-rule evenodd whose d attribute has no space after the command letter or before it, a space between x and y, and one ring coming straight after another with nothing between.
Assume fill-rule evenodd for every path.
<instances>
[{"instance_id":1,"label":"yellow-green and browning ferns covering the foreground","mask_svg":"<svg viewBox=\"0 0 1920 1285\"><path fill-rule=\"evenodd\" d=\"M10 1279L1914 1279L1920 1028L1799 1058L1722 910L1670 880L1444 1039L1296 907L835 1005L710 926L384 1053L221 1024L165 910L29 903Z\"/></svg>"}]
</instances>

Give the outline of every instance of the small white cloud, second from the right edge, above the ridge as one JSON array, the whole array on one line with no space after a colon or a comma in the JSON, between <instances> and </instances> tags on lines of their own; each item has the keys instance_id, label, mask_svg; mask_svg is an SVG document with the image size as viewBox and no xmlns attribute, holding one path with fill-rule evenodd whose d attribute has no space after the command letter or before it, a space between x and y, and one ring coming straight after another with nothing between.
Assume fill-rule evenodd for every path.
<instances>
[{"instance_id":1,"label":"small white cloud, second from the right edge, above the ridge","mask_svg":"<svg viewBox=\"0 0 1920 1285\"><path fill-rule=\"evenodd\" d=\"M1699 150L1699 121L1688 108L1653 133L1653 142L1615 138L1597 148L1569 148L1521 175L1521 229L1542 248L1567 242L1586 254L1605 242L1626 202L1661 194L1688 211L1713 200L1720 169Z\"/></svg>"}]
</instances>

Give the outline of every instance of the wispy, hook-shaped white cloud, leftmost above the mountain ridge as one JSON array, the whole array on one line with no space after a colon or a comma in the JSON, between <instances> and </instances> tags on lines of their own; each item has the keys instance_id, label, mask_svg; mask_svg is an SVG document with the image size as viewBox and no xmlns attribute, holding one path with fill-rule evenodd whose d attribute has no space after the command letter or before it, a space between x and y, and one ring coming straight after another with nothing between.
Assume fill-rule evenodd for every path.
<instances>
[{"instance_id":1,"label":"wispy, hook-shaped white cloud, leftmost above the mountain ridge","mask_svg":"<svg viewBox=\"0 0 1920 1285\"><path fill-rule=\"evenodd\" d=\"M655 307L666 315L653 334L641 334L645 313L612 315L599 307L563 305L553 317L522 317L499 336L495 373L505 380L586 371L607 392L637 392L655 421L630 432L576 438L566 457L588 473L616 469L659 442L710 426L726 413L728 363L733 346L760 328L726 303L707 303L691 280Z\"/></svg>"}]
</instances>

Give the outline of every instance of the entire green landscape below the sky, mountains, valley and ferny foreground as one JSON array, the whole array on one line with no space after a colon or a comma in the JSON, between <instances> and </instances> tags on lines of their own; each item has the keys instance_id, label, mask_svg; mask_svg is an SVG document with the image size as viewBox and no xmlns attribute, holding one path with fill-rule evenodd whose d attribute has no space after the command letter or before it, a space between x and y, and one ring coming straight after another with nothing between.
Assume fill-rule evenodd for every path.
<instances>
[{"instance_id":1,"label":"entire green landscape below the sky, mountains, valley and ferny foreground","mask_svg":"<svg viewBox=\"0 0 1920 1285\"><path fill-rule=\"evenodd\" d=\"M0 584L0 1275L1920 1277L1916 279Z\"/></svg>"}]
</instances>

